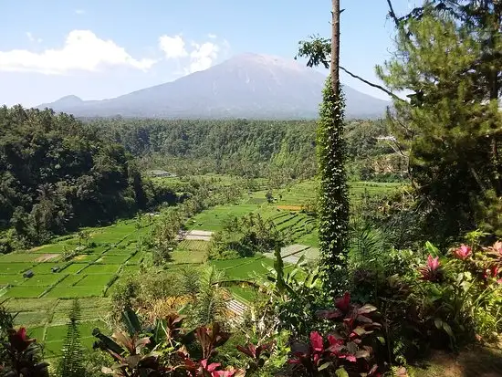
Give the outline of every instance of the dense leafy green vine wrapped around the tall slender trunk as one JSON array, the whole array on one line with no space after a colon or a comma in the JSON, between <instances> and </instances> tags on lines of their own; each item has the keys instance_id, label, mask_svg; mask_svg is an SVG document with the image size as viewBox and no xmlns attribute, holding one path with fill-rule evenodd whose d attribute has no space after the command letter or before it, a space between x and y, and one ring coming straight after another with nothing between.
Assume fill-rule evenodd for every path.
<instances>
[{"instance_id":1,"label":"dense leafy green vine wrapped around the tall slender trunk","mask_svg":"<svg viewBox=\"0 0 502 377\"><path fill-rule=\"evenodd\" d=\"M320 266L326 288L340 290L347 266L349 196L345 173L346 145L343 140L344 99L333 93L330 79L323 92L319 111L319 247ZM342 289L342 288L341 288Z\"/></svg>"}]
</instances>

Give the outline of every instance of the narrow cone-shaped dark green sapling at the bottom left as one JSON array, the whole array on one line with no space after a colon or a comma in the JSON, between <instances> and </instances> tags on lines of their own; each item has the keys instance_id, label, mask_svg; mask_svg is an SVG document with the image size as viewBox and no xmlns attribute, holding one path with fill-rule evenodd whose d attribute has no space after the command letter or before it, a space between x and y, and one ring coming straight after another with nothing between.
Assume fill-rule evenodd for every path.
<instances>
[{"instance_id":1,"label":"narrow cone-shaped dark green sapling at the bottom left","mask_svg":"<svg viewBox=\"0 0 502 377\"><path fill-rule=\"evenodd\" d=\"M83 377L87 375L87 372L84 364L80 332L78 330L80 306L77 299L73 301L68 318L68 330L63 340L63 355L58 361L57 374L60 377Z\"/></svg>"}]
</instances>

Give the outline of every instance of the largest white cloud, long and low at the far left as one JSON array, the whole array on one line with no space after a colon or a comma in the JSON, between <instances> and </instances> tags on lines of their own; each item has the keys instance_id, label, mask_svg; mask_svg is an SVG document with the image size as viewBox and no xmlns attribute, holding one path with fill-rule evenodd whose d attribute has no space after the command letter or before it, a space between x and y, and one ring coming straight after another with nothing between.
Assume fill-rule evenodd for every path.
<instances>
[{"instance_id":1,"label":"largest white cloud, long and low at the far left","mask_svg":"<svg viewBox=\"0 0 502 377\"><path fill-rule=\"evenodd\" d=\"M21 49L0 51L0 70L50 75L75 70L98 71L111 66L146 71L156 62L148 58L132 58L123 47L112 40L100 39L90 30L71 31L60 49L47 49L40 53Z\"/></svg>"}]
</instances>

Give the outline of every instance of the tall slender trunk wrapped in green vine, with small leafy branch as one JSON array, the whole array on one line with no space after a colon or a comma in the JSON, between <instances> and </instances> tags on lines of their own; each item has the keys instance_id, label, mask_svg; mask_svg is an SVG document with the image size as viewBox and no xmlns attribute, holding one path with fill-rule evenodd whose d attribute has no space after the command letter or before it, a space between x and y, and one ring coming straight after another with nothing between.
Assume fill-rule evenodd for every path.
<instances>
[{"instance_id":1,"label":"tall slender trunk wrapped in green vine, with small leafy branch","mask_svg":"<svg viewBox=\"0 0 502 377\"><path fill-rule=\"evenodd\" d=\"M349 197L345 173L346 146L343 140L345 102L340 86L340 0L332 0L329 78L323 90L318 124L319 247L324 285L329 291L342 289L347 264ZM308 65L328 66L329 40L300 42L298 56Z\"/></svg>"}]
</instances>

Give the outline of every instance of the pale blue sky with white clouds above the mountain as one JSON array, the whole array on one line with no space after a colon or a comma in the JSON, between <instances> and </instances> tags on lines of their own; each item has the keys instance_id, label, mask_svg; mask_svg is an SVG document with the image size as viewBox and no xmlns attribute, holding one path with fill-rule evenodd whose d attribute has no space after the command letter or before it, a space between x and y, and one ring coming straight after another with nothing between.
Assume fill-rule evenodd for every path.
<instances>
[{"instance_id":1,"label":"pale blue sky with white clouds above the mountain","mask_svg":"<svg viewBox=\"0 0 502 377\"><path fill-rule=\"evenodd\" d=\"M418 0L416 0L418 2ZM413 0L394 0L405 12ZM2 0L0 104L106 99L255 52L329 37L329 0ZM341 0L341 64L376 80L392 51L385 0ZM382 93L342 76L354 89Z\"/></svg>"}]
</instances>

